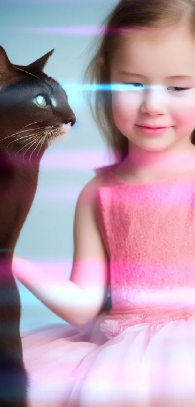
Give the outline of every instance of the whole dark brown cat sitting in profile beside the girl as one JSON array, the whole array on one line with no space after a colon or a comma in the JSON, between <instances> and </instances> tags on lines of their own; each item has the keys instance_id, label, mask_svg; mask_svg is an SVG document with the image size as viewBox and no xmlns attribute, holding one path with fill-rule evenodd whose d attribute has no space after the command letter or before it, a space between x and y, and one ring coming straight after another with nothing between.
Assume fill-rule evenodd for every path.
<instances>
[{"instance_id":1,"label":"whole dark brown cat sitting in profile beside the girl","mask_svg":"<svg viewBox=\"0 0 195 407\"><path fill-rule=\"evenodd\" d=\"M43 72L52 53L14 65L0 47L0 407L28 406L20 298L12 273L15 245L45 149L75 123L65 91Z\"/></svg>"}]
</instances>

